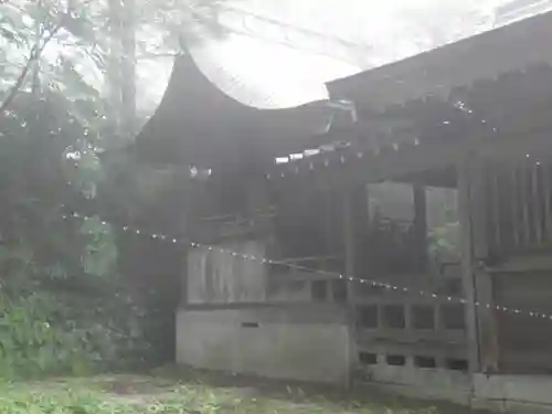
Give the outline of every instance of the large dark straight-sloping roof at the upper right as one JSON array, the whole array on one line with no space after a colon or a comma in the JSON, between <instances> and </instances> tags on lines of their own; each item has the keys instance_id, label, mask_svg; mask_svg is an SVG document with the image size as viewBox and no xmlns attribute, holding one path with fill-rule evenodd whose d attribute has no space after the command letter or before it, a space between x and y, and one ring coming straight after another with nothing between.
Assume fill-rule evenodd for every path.
<instances>
[{"instance_id":1,"label":"large dark straight-sloping roof at the upper right","mask_svg":"<svg viewBox=\"0 0 552 414\"><path fill-rule=\"evenodd\" d=\"M551 42L549 12L327 85L331 98L381 112L428 96L447 98L476 81L551 63Z\"/></svg>"}]
</instances>

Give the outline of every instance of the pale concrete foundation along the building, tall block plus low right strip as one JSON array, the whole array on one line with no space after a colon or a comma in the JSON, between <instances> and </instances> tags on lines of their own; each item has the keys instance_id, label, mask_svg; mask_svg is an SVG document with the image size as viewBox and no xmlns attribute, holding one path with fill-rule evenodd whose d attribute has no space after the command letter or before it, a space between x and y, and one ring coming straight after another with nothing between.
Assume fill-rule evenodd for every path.
<instances>
[{"instance_id":1,"label":"pale concrete foundation along the building, tall block plus low right strip","mask_svg":"<svg viewBox=\"0 0 552 414\"><path fill-rule=\"evenodd\" d=\"M346 311L338 307L309 306L302 312L289 305L189 308L178 311L177 323L181 364L338 386L349 385L352 378L353 344ZM485 375L380 362L365 369L355 385L474 408L552 414L552 376Z\"/></svg>"}]
</instances>

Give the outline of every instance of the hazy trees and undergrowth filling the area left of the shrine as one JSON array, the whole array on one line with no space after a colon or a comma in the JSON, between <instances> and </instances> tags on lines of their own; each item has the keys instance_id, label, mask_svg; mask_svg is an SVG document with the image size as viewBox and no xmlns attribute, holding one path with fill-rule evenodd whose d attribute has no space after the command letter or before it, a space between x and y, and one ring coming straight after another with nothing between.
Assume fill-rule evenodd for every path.
<instances>
[{"instance_id":1,"label":"hazy trees and undergrowth filling the area left of the shrine","mask_svg":"<svg viewBox=\"0 0 552 414\"><path fill-rule=\"evenodd\" d=\"M0 378L172 358L178 269L145 280L139 259L162 259L121 227L158 231L173 181L151 180L125 147L142 123L139 54L177 53L198 32L190 15L208 23L213 3L0 1Z\"/></svg>"}]
</instances>

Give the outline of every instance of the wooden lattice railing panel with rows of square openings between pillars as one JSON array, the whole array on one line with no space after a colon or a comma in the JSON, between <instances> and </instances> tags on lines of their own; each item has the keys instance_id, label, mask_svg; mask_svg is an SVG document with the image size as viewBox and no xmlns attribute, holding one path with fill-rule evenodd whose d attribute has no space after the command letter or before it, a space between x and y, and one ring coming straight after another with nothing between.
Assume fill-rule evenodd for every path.
<instances>
[{"instance_id":1,"label":"wooden lattice railing panel with rows of square openings between pillars","mask_svg":"<svg viewBox=\"0 0 552 414\"><path fill-rule=\"evenodd\" d=\"M464 306L446 299L381 297L355 304L361 364L467 369Z\"/></svg>"}]
</instances>

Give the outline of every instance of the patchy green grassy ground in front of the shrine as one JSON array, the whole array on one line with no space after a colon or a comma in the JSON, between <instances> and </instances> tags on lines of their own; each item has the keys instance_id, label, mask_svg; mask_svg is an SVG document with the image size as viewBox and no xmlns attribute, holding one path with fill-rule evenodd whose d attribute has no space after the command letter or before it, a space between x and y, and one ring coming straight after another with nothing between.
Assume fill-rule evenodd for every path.
<instances>
[{"instance_id":1,"label":"patchy green grassy ground in front of the shrine","mask_svg":"<svg viewBox=\"0 0 552 414\"><path fill-rule=\"evenodd\" d=\"M0 414L463 414L397 399L344 396L297 384L204 374L112 375L3 383ZM465 413L465 412L464 412Z\"/></svg>"}]
</instances>

